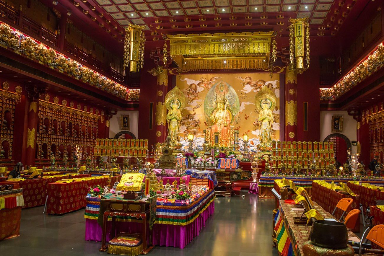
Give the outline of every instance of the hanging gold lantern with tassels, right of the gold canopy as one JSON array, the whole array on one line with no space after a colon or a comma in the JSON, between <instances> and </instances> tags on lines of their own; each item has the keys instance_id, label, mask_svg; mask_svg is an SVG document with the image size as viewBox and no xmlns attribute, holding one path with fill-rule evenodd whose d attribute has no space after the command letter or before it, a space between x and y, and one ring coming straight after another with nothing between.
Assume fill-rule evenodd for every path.
<instances>
[{"instance_id":1,"label":"hanging gold lantern with tassels, right of the gold canopy","mask_svg":"<svg viewBox=\"0 0 384 256\"><path fill-rule=\"evenodd\" d=\"M297 73L303 73L309 68L309 24L308 17L305 18L290 18L292 23L290 28L290 62L296 59ZM307 28L307 29L305 29ZM305 40L306 39L306 40ZM306 48L307 66L304 67L304 57Z\"/></svg>"}]
</instances>

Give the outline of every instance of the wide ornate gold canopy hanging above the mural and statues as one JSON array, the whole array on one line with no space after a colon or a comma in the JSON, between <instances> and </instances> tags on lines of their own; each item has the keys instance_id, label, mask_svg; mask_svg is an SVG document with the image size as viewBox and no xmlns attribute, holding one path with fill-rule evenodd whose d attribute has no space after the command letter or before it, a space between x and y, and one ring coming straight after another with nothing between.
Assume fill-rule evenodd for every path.
<instances>
[{"instance_id":1,"label":"wide ornate gold canopy hanging above the mural and statues","mask_svg":"<svg viewBox=\"0 0 384 256\"><path fill-rule=\"evenodd\" d=\"M164 35L170 56L182 70L267 69L270 32Z\"/></svg>"}]
</instances>

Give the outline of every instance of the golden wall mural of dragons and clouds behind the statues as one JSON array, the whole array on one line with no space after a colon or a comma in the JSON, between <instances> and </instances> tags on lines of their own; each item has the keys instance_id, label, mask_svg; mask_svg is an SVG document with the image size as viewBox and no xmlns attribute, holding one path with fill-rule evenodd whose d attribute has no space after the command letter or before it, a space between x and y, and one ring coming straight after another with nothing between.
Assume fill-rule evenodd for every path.
<instances>
[{"instance_id":1,"label":"golden wall mural of dragons and clouds behind the statues","mask_svg":"<svg viewBox=\"0 0 384 256\"><path fill-rule=\"evenodd\" d=\"M280 81L279 74L241 73L241 74L184 74L177 77L176 86L184 92L185 107L182 110L180 123L180 140L183 148L187 147L187 135L195 136L194 144L200 148L204 143L204 130L209 128L209 122L204 116L204 100L212 86L223 81L229 84L237 93L240 101L239 113L232 123L232 129L239 130L240 149L242 135L247 132L252 146L260 143L259 110L255 106L255 96L263 88L270 89L277 98L273 109L272 140L280 138Z\"/></svg>"}]
</instances>

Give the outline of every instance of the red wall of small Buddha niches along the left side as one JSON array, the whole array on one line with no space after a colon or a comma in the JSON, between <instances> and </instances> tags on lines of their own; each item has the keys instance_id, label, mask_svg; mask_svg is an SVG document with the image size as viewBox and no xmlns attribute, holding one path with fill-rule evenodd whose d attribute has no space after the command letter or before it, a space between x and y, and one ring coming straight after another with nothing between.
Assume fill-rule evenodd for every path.
<instances>
[{"instance_id":1,"label":"red wall of small Buddha niches along the left side","mask_svg":"<svg viewBox=\"0 0 384 256\"><path fill-rule=\"evenodd\" d=\"M27 94L24 85L0 78L1 166L25 160L30 108ZM48 159L50 152L58 160L64 153L71 159L76 144L84 145L89 154L96 145L96 138L106 137L104 109L72 97L49 91L40 96L34 147L37 162Z\"/></svg>"}]
</instances>

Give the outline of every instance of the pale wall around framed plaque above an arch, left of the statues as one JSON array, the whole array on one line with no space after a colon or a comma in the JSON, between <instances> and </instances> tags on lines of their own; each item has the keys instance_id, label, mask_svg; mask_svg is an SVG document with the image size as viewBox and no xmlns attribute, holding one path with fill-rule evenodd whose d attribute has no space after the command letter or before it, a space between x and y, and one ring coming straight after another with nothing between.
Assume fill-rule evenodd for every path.
<instances>
[{"instance_id":1,"label":"pale wall around framed plaque above an arch, left of the statues","mask_svg":"<svg viewBox=\"0 0 384 256\"><path fill-rule=\"evenodd\" d=\"M129 129L121 129L121 116L129 116ZM131 132L136 136L136 139L146 139L146 137L139 138L139 111L118 111L116 115L109 119L109 138L113 138L119 132ZM128 137L127 139L131 139Z\"/></svg>"}]
</instances>

